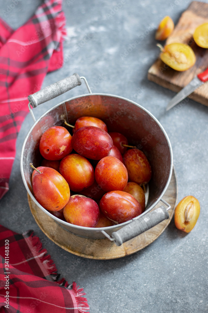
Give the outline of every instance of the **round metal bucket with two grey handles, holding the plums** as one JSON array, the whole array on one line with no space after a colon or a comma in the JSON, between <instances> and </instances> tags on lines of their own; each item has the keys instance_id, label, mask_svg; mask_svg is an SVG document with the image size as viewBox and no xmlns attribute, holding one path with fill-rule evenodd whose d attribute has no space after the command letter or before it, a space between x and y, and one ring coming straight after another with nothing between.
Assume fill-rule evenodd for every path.
<instances>
[{"instance_id":1,"label":"round metal bucket with two grey handles, holding the plums","mask_svg":"<svg viewBox=\"0 0 208 313\"><path fill-rule=\"evenodd\" d=\"M84 77L81 78L85 80ZM57 95L80 85L81 79L79 75L74 74L28 97L30 101L29 108L35 123L29 130L22 146L22 179L27 192L36 205L60 226L78 236L91 239L107 237L117 245L120 245L162 220L169 218L167 210L170 206L162 200L162 196L166 192L172 176L172 148L162 125L142 106L115 95L92 94L86 80L85 83L89 94L74 97L57 104L37 121L35 121L30 105L35 107L55 98ZM54 92L55 89L56 92ZM124 134L131 145L137 146L148 157L152 168L148 203L145 211L138 217L133 218L133 220L103 228L81 227L56 218L36 201L32 191L31 176L33 170L30 167L30 162L34 166L39 166L41 162L39 143L42 134L51 126L65 126L65 120L73 125L76 119L81 116L100 118L106 123L109 131ZM149 212L159 201L165 203L167 208L162 205L160 208Z\"/></svg>"}]
</instances>

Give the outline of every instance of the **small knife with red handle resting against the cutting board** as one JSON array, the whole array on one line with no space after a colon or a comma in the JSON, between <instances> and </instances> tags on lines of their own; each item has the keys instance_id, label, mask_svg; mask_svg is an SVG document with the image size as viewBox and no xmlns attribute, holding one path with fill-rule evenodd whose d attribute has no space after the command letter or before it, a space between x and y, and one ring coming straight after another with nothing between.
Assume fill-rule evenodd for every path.
<instances>
[{"instance_id":1,"label":"small knife with red handle resting against the cutting board","mask_svg":"<svg viewBox=\"0 0 208 313\"><path fill-rule=\"evenodd\" d=\"M195 89L197 89L201 85L203 85L207 80L208 80L208 68L204 72L202 72L202 73L198 74L196 77L194 77L194 79L192 79L191 82L186 87L181 89L181 91L179 91L177 93L177 95L175 95L175 97L173 97L170 100L170 102L167 105L166 111L170 110L172 107L177 105L177 103L179 103L180 101L185 99Z\"/></svg>"}]
</instances>

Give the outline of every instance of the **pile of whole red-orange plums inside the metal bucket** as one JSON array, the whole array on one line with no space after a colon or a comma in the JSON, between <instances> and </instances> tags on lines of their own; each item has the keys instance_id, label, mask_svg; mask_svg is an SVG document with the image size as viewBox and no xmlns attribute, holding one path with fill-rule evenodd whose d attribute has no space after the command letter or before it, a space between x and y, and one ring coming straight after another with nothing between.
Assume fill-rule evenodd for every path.
<instances>
[{"instance_id":1,"label":"pile of whole red-orange plums inside the metal bucket","mask_svg":"<svg viewBox=\"0 0 208 313\"><path fill-rule=\"evenodd\" d=\"M41 165L32 173L36 200L56 217L84 227L126 222L145 209L141 186L151 179L145 154L98 118L80 117L73 136L63 126L40 141ZM127 150L128 149L128 150Z\"/></svg>"}]
</instances>

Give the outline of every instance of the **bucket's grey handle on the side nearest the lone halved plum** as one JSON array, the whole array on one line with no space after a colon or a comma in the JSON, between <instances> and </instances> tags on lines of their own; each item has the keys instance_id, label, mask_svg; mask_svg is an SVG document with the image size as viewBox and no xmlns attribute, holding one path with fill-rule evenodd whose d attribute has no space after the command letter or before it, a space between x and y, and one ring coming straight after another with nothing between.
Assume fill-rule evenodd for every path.
<instances>
[{"instance_id":1,"label":"bucket's grey handle on the side nearest the lone halved plum","mask_svg":"<svg viewBox=\"0 0 208 313\"><path fill-rule=\"evenodd\" d=\"M159 208L144 214L141 217L133 218L133 221L124 227L117 230L117 232L113 232L111 237L105 232L101 231L109 240L114 241L117 246L120 246L124 242L144 233L146 230L156 226L160 222L169 218L168 210L171 206L161 199L161 201L167 205L168 208L165 208L164 205Z\"/></svg>"}]
</instances>

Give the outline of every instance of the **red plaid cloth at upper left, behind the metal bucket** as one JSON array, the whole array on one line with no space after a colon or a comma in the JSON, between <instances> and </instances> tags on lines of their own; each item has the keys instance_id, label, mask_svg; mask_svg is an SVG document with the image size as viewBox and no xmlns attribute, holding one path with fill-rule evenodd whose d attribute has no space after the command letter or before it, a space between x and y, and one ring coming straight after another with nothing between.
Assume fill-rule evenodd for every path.
<instances>
[{"instance_id":1,"label":"red plaid cloth at upper left, behind the metal bucket","mask_svg":"<svg viewBox=\"0 0 208 313\"><path fill-rule=\"evenodd\" d=\"M62 0L45 0L16 31L0 18L0 198L9 189L16 139L28 113L27 96L63 64L61 5Z\"/></svg>"}]
</instances>

